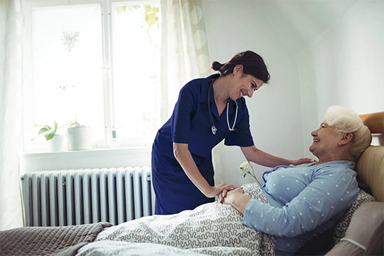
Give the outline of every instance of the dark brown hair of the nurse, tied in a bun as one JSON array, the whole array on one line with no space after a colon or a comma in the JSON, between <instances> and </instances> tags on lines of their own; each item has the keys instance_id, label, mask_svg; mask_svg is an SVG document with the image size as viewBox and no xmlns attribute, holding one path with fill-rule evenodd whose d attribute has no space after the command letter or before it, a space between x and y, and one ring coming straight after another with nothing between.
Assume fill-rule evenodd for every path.
<instances>
[{"instance_id":1,"label":"dark brown hair of the nurse, tied in a bun","mask_svg":"<svg viewBox=\"0 0 384 256\"><path fill-rule=\"evenodd\" d=\"M244 67L242 72L245 75L253 75L255 78L260 79L265 83L271 78L262 57L257 53L252 52L252 50L238 53L224 64L221 64L218 61L213 61L210 68L218 71L220 75L225 76L233 73L233 68L238 64L241 64Z\"/></svg>"}]
</instances>

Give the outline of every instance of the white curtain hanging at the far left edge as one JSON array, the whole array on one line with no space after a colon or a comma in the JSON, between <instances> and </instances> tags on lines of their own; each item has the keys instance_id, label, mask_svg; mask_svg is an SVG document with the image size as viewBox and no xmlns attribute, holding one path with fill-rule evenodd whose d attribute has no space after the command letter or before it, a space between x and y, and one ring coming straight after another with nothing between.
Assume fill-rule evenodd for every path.
<instances>
[{"instance_id":1,"label":"white curtain hanging at the far left edge","mask_svg":"<svg viewBox=\"0 0 384 256\"><path fill-rule=\"evenodd\" d=\"M23 226L21 154L21 1L0 0L0 230Z\"/></svg>"}]
</instances>

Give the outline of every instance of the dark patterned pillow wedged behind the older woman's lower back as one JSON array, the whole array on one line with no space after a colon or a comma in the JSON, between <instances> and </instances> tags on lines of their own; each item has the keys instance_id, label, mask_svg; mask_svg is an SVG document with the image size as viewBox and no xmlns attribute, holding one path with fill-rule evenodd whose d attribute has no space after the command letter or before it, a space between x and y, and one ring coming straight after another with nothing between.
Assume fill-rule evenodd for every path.
<instances>
[{"instance_id":1,"label":"dark patterned pillow wedged behind the older woman's lower back","mask_svg":"<svg viewBox=\"0 0 384 256\"><path fill-rule=\"evenodd\" d=\"M334 228L334 245L336 245L336 243L338 243L338 241L340 241L341 238L343 238L346 234L346 230L349 226L349 223L351 223L353 213L355 213L355 211L363 203L374 201L376 201L376 199L370 194L366 193L366 191L361 190L358 192L355 201L353 201L352 205L348 208L346 213L344 213L343 218L341 218L341 220L338 220L338 223Z\"/></svg>"}]
</instances>

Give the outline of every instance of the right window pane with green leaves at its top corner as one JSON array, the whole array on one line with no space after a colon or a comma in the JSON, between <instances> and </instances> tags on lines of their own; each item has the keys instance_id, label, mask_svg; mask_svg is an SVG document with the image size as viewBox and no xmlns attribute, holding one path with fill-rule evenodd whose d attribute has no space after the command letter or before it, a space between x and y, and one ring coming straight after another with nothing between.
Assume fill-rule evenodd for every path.
<instances>
[{"instance_id":1,"label":"right window pane with green leaves at its top corner","mask_svg":"<svg viewBox=\"0 0 384 256\"><path fill-rule=\"evenodd\" d=\"M112 10L118 136L154 137L160 122L159 4L119 5Z\"/></svg>"}]
</instances>

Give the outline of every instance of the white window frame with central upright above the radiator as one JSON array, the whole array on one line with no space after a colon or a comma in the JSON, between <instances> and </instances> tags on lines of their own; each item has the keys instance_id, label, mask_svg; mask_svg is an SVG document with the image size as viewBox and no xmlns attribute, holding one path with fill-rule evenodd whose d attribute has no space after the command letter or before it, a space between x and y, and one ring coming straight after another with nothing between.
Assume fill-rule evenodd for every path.
<instances>
[{"instance_id":1,"label":"white window frame with central upright above the radiator","mask_svg":"<svg viewBox=\"0 0 384 256\"><path fill-rule=\"evenodd\" d=\"M159 0L23 0L23 151L36 152L46 151L46 143L43 141L34 141L31 144L31 138L27 137L36 130L31 127L33 124L33 110L28 110L28 106L33 105L33 11L35 9L51 8L55 6L76 6L76 5L99 5L101 14L101 33L102 33L102 83L103 83L103 105L105 124L104 138L95 140L93 149L108 149L112 147L128 148L128 147L142 147L151 146L153 137L140 137L140 138L119 138L119 144L116 146L111 144L112 130L116 127L114 117L114 95L113 90L113 36L112 36L112 7L117 4L154 4ZM161 82L161 86L164 83ZM161 89L164 91L164 89ZM166 102L162 102L166 106ZM164 120L161 119L161 122ZM118 136L118 131L117 131ZM97 145L97 146L95 146Z\"/></svg>"}]
</instances>

